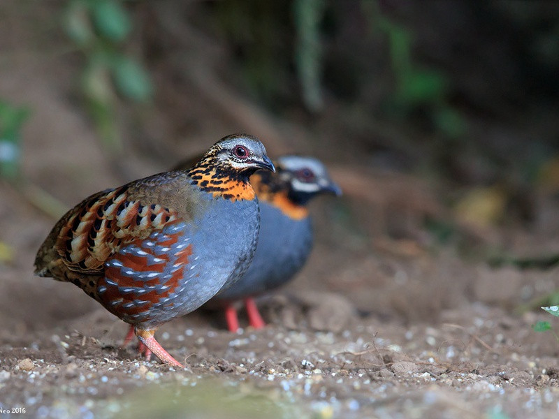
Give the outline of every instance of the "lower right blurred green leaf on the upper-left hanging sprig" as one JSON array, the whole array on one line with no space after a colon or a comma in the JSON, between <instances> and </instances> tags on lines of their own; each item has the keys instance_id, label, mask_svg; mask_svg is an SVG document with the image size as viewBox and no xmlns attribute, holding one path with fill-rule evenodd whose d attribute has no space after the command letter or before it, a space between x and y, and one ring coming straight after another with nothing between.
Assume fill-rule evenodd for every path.
<instances>
[{"instance_id":1,"label":"lower right blurred green leaf on the upper-left hanging sprig","mask_svg":"<svg viewBox=\"0 0 559 419\"><path fill-rule=\"evenodd\" d=\"M112 65L112 75L120 94L134 101L147 101L153 93L150 76L138 62L127 57L117 57Z\"/></svg>"}]
</instances>

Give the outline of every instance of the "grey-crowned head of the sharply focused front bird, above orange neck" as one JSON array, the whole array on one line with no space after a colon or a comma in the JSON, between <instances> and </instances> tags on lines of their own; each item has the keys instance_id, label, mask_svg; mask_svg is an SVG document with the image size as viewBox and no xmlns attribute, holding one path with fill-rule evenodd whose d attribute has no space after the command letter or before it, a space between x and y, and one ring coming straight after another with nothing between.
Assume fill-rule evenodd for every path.
<instances>
[{"instance_id":1,"label":"grey-crowned head of the sharply focused front bird, above orange neck","mask_svg":"<svg viewBox=\"0 0 559 419\"><path fill-rule=\"evenodd\" d=\"M275 172L264 145L258 138L247 134L233 134L222 138L210 147L200 163L204 162L242 177L249 177L261 169Z\"/></svg>"}]
</instances>

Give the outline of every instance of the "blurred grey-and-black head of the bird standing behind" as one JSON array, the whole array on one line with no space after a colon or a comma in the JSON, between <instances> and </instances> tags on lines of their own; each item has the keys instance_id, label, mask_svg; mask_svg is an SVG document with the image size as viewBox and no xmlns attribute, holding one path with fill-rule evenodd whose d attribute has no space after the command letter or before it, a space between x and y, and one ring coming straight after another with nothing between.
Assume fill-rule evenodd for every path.
<instances>
[{"instance_id":1,"label":"blurred grey-and-black head of the bird standing behind","mask_svg":"<svg viewBox=\"0 0 559 419\"><path fill-rule=\"evenodd\" d=\"M318 193L342 194L321 161L305 156L282 156L277 159L279 176L291 186L290 197L300 201L309 200Z\"/></svg>"}]
</instances>

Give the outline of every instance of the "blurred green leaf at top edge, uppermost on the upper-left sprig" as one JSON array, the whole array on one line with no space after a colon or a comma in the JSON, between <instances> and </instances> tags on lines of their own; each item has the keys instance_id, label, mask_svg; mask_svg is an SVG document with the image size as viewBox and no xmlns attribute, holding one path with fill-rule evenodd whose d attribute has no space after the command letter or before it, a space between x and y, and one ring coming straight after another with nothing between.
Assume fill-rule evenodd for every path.
<instances>
[{"instance_id":1,"label":"blurred green leaf at top edge, uppermost on the upper-left sprig","mask_svg":"<svg viewBox=\"0 0 559 419\"><path fill-rule=\"evenodd\" d=\"M115 42L124 40L132 24L120 1L97 0L92 6L93 22L99 34Z\"/></svg>"}]
</instances>

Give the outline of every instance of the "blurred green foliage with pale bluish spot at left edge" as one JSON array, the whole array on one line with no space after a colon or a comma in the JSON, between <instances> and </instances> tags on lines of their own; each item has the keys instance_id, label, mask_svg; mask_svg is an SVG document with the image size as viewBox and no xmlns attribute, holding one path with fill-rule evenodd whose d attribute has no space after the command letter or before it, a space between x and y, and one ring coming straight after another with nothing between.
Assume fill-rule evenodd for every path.
<instances>
[{"instance_id":1,"label":"blurred green foliage with pale bluish spot at left edge","mask_svg":"<svg viewBox=\"0 0 559 419\"><path fill-rule=\"evenodd\" d=\"M29 115L29 109L0 100L0 177L20 175L21 131Z\"/></svg>"}]
</instances>

